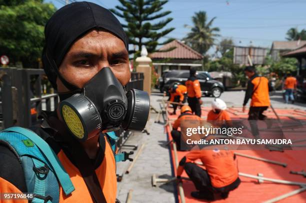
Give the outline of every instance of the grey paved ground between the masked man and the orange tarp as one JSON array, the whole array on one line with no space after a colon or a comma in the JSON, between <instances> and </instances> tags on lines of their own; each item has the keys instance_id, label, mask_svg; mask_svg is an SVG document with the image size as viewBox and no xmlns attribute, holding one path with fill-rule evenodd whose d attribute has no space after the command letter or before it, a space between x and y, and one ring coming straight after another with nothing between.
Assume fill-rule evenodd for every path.
<instances>
[{"instance_id":1,"label":"grey paved ground between the masked man and the orange tarp","mask_svg":"<svg viewBox=\"0 0 306 203\"><path fill-rule=\"evenodd\" d=\"M151 105L159 110L157 102L161 96L151 96ZM121 203L126 201L129 190L132 192L132 203L174 203L173 184L161 185L156 188L151 187L151 176L163 175L163 178L172 176L169 150L164 144L167 142L163 125L154 123L156 113L150 114L150 119L146 126L150 135L145 133L135 133L126 142L127 145L137 144L140 148L145 143L144 149L135 162L129 174L124 174L121 182L118 183L117 198ZM161 119L162 121L162 119ZM130 149L130 148L129 148ZM122 151L129 151L126 147ZM136 152L135 152L136 153ZM117 164L117 174L122 174L128 168L130 162L120 162Z\"/></svg>"}]
</instances>

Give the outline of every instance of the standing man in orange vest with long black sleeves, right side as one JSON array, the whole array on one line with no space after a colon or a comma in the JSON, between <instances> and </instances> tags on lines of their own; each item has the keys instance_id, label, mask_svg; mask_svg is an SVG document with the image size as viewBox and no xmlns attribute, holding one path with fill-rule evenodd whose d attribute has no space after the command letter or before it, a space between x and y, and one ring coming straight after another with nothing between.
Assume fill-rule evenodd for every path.
<instances>
[{"instance_id":1,"label":"standing man in orange vest with long black sleeves, right side","mask_svg":"<svg viewBox=\"0 0 306 203\"><path fill-rule=\"evenodd\" d=\"M243 101L242 112L245 111L247 101L251 99L248 120L250 121L253 136L257 137L259 132L255 121L266 119L266 116L262 113L270 106L269 91L271 87L269 87L267 78L256 74L254 67L245 67L244 73L249 80Z\"/></svg>"}]
</instances>

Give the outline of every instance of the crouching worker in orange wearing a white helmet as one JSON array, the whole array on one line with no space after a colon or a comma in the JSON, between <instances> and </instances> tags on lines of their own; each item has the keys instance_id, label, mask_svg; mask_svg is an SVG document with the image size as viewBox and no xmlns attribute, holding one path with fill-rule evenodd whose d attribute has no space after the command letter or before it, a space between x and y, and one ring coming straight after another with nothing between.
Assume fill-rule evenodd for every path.
<instances>
[{"instance_id":1,"label":"crouching worker in orange wearing a white helmet","mask_svg":"<svg viewBox=\"0 0 306 203\"><path fill-rule=\"evenodd\" d=\"M232 126L231 119L226 110L226 103L222 99L215 98L211 103L211 110L207 114L207 121L217 127Z\"/></svg>"}]
</instances>

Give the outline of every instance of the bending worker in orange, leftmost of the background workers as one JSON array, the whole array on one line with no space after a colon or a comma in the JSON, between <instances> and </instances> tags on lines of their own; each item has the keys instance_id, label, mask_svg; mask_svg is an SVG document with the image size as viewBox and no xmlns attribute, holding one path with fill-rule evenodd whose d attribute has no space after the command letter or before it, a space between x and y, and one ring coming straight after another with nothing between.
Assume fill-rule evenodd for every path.
<instances>
[{"instance_id":1,"label":"bending worker in orange, leftmost of the background workers","mask_svg":"<svg viewBox=\"0 0 306 203\"><path fill-rule=\"evenodd\" d=\"M169 89L169 101L176 102L182 105L182 103L186 102L187 97L187 87L185 85L174 83ZM172 104L173 106L173 114L175 115L175 111L177 108L177 104Z\"/></svg>"}]
</instances>

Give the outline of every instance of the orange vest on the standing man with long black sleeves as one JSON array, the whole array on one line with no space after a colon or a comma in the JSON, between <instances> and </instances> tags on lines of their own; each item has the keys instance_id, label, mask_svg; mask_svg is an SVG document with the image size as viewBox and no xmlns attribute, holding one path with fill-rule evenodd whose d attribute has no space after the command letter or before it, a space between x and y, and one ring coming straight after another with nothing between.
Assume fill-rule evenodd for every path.
<instances>
[{"instance_id":1,"label":"orange vest on the standing man with long black sleeves","mask_svg":"<svg viewBox=\"0 0 306 203\"><path fill-rule=\"evenodd\" d=\"M254 85L250 106L270 106L268 79L255 77L251 83Z\"/></svg>"}]
</instances>

